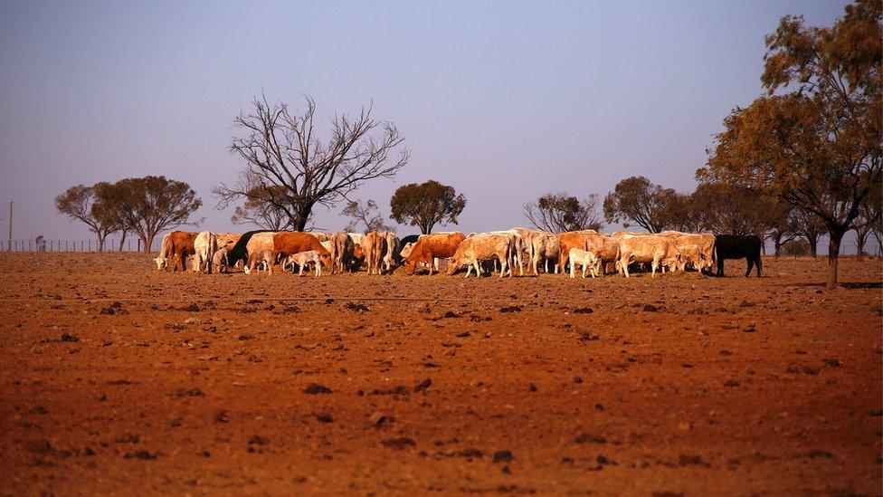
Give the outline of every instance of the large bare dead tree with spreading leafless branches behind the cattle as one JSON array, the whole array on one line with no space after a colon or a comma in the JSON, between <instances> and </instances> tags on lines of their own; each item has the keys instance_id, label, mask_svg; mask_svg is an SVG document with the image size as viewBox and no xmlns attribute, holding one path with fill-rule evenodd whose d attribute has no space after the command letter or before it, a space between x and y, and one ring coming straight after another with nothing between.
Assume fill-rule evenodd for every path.
<instances>
[{"instance_id":1,"label":"large bare dead tree with spreading leafless branches behind the cattle","mask_svg":"<svg viewBox=\"0 0 883 497\"><path fill-rule=\"evenodd\" d=\"M254 111L235 119L244 135L233 139L230 151L245 160L246 169L239 184L214 188L218 208L241 198L258 198L285 213L293 229L303 231L314 206L330 208L366 181L394 177L408 163L404 136L393 123L372 119L370 106L354 117L335 115L331 138L322 143L315 125L316 103L305 100L306 108L292 113L285 103L255 98ZM246 177L254 178L258 188Z\"/></svg>"}]
</instances>

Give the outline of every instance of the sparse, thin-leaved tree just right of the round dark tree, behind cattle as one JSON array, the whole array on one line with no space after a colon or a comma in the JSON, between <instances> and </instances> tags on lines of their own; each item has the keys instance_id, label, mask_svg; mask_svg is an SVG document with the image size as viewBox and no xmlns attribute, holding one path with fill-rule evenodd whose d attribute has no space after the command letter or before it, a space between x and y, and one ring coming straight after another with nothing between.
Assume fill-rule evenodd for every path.
<instances>
[{"instance_id":1,"label":"sparse, thin-leaved tree just right of the round dark tree, behind cattle","mask_svg":"<svg viewBox=\"0 0 883 497\"><path fill-rule=\"evenodd\" d=\"M565 193L546 194L534 203L525 204L527 220L539 229L553 233L584 229L600 230L598 196L591 194L580 200Z\"/></svg>"}]
</instances>

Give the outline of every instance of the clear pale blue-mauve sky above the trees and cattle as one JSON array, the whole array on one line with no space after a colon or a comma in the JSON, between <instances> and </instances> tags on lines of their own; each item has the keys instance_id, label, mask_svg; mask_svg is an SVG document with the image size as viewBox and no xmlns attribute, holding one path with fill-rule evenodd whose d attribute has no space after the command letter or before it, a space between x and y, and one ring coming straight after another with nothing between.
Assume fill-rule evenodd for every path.
<instances>
[{"instance_id":1,"label":"clear pale blue-mauve sky above the trees and cattle","mask_svg":"<svg viewBox=\"0 0 883 497\"><path fill-rule=\"evenodd\" d=\"M319 123L366 105L392 121L408 166L354 195L387 219L395 188L431 178L467 197L465 232L635 175L692 191L722 120L761 94L764 35L785 14L831 24L844 5L5 1L0 217L14 200L14 238L88 238L56 195L165 175L203 199L203 229L247 229L211 189L242 171L233 119L261 93L311 96ZM318 207L316 225L341 229L343 206Z\"/></svg>"}]
</instances>

